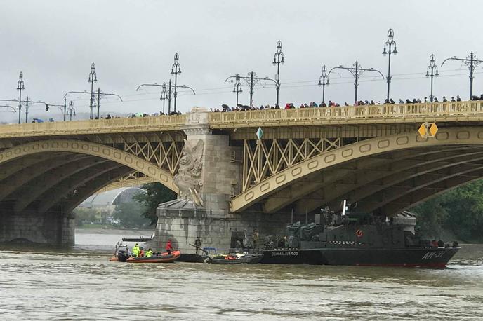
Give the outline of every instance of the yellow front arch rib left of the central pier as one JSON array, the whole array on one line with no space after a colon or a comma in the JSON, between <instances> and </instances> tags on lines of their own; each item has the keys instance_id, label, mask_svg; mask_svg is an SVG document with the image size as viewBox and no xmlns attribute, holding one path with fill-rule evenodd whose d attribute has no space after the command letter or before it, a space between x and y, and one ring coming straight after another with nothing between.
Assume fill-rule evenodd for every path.
<instances>
[{"instance_id":1,"label":"yellow front arch rib left of the central pier","mask_svg":"<svg viewBox=\"0 0 483 321\"><path fill-rule=\"evenodd\" d=\"M2 163L10 162L18 158L34 155L37 153L77 153L90 156L97 156L105 160L119 163L138 172L142 172L147 177L152 177L156 182L164 184L168 189L178 192L178 188L173 183L173 175L167 170L157 167L148 161L134 156L126 151L115 149L93 142L79 140L53 139L31 142L11 147L0 152L0 166Z\"/></svg>"}]
</instances>

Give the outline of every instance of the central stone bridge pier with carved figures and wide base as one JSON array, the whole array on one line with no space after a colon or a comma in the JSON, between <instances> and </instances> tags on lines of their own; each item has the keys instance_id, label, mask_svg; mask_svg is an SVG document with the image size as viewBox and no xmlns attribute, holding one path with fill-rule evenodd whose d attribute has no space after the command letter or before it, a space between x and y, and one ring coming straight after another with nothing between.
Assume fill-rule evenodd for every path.
<instances>
[{"instance_id":1,"label":"central stone bridge pier with carved figures and wide base","mask_svg":"<svg viewBox=\"0 0 483 321\"><path fill-rule=\"evenodd\" d=\"M194 240L202 247L224 252L256 229L263 235L284 231L287 217L257 212L231 213L230 200L241 187L242 146L230 146L230 137L209 128L209 113L193 109L187 117L187 135L180 168L174 177L177 200L159 205L152 247L164 250L168 240L182 254L193 254ZM255 134L253 134L255 135ZM259 241L260 242L260 241Z\"/></svg>"}]
</instances>

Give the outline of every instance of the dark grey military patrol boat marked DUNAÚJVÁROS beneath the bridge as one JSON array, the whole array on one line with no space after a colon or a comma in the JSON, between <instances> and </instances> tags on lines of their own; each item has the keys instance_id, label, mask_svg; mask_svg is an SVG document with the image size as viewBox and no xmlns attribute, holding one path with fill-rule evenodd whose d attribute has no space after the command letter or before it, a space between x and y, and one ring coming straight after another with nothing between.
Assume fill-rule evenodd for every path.
<instances>
[{"instance_id":1,"label":"dark grey military patrol boat marked DUNA\u00daJV\u00c1ROS beneath the bridge","mask_svg":"<svg viewBox=\"0 0 483 321\"><path fill-rule=\"evenodd\" d=\"M416 236L411 212L389 219L348 212L345 202L343 208L334 214L326 207L314 223L289 225L285 245L267 246L260 263L444 268L460 249Z\"/></svg>"}]
</instances>

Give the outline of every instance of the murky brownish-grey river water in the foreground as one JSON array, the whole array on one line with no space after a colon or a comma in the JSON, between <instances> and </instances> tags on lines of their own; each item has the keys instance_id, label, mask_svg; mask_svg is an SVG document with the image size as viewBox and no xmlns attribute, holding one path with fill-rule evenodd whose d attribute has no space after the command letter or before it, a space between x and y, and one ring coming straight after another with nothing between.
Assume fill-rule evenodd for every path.
<instances>
[{"instance_id":1,"label":"murky brownish-grey river water in the foreground","mask_svg":"<svg viewBox=\"0 0 483 321\"><path fill-rule=\"evenodd\" d=\"M483 320L483 245L446 269L143 265L107 261L120 237L0 247L0 320Z\"/></svg>"}]
</instances>

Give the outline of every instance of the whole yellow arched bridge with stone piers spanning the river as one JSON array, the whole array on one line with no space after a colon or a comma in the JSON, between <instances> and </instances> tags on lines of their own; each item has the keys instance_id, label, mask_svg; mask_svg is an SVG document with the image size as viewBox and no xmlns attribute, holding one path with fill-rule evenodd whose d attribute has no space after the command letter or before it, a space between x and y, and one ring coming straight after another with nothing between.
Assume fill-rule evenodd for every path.
<instances>
[{"instance_id":1,"label":"whole yellow arched bridge with stone piers spanning the river","mask_svg":"<svg viewBox=\"0 0 483 321\"><path fill-rule=\"evenodd\" d=\"M0 241L72 244L74 207L144 182L223 221L213 226L225 243L227 231L263 232L342 199L390 216L483 177L482 118L483 102L470 101L1 125ZM418 134L425 122L435 137ZM201 223L180 224L188 240Z\"/></svg>"}]
</instances>

